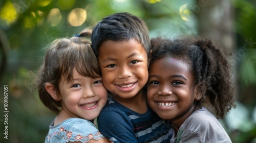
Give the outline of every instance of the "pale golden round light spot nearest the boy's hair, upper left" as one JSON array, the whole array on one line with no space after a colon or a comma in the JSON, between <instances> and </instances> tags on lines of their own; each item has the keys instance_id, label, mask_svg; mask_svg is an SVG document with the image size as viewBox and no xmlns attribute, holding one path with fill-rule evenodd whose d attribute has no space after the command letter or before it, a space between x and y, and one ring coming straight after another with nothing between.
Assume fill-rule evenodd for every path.
<instances>
[{"instance_id":1,"label":"pale golden round light spot nearest the boy's hair, upper left","mask_svg":"<svg viewBox=\"0 0 256 143\"><path fill-rule=\"evenodd\" d=\"M81 8L75 8L73 9L69 16L68 16L68 22L71 26L77 27L82 25L84 21L86 21L87 18L87 12L84 9Z\"/></svg>"}]
</instances>

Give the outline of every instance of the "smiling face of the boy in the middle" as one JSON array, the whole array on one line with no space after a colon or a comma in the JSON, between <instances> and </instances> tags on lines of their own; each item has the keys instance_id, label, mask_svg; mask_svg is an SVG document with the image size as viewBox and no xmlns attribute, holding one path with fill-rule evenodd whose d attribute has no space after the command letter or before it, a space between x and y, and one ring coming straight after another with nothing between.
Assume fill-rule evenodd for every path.
<instances>
[{"instance_id":1,"label":"smiling face of the boy in the middle","mask_svg":"<svg viewBox=\"0 0 256 143\"><path fill-rule=\"evenodd\" d=\"M134 39L103 42L98 60L103 84L114 98L132 98L147 82L147 54Z\"/></svg>"}]
</instances>

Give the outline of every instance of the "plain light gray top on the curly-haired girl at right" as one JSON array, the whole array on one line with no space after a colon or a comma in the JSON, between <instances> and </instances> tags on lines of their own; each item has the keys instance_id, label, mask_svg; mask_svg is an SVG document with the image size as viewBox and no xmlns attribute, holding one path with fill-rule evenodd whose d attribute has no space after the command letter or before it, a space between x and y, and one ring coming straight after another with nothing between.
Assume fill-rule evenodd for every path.
<instances>
[{"instance_id":1,"label":"plain light gray top on the curly-haired girl at right","mask_svg":"<svg viewBox=\"0 0 256 143\"><path fill-rule=\"evenodd\" d=\"M231 142L228 134L205 107L193 112L181 125L172 142Z\"/></svg>"}]
</instances>

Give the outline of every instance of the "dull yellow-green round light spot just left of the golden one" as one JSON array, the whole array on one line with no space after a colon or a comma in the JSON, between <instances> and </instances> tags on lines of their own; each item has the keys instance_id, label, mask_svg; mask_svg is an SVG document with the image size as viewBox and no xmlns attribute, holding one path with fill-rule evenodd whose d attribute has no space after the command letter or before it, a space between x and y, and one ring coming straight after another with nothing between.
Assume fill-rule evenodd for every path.
<instances>
[{"instance_id":1,"label":"dull yellow-green round light spot just left of the golden one","mask_svg":"<svg viewBox=\"0 0 256 143\"><path fill-rule=\"evenodd\" d=\"M55 27L58 25L61 18L62 18L62 15L61 15L59 9L54 8L54 9L51 9L47 20L51 27Z\"/></svg>"}]
</instances>

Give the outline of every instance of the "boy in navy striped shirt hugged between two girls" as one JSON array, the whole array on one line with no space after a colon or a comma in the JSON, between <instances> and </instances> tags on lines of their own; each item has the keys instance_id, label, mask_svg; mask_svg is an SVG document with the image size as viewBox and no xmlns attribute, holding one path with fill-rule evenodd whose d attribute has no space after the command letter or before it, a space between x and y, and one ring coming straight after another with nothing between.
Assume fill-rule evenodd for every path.
<instances>
[{"instance_id":1,"label":"boy in navy striped shirt hugged between two girls","mask_svg":"<svg viewBox=\"0 0 256 143\"><path fill-rule=\"evenodd\" d=\"M113 142L169 142L172 127L146 103L151 52L144 21L129 13L107 16L92 32L92 47L111 94L97 118L100 132Z\"/></svg>"}]
</instances>

